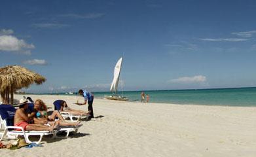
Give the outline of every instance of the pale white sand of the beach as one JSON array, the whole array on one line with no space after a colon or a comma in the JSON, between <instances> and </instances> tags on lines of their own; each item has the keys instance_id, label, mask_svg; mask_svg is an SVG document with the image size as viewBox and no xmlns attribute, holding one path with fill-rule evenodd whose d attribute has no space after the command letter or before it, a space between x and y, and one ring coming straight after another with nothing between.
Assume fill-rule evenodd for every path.
<instances>
[{"instance_id":1,"label":"pale white sand of the beach","mask_svg":"<svg viewBox=\"0 0 256 157\"><path fill-rule=\"evenodd\" d=\"M22 96L15 96L20 99ZM74 96L31 96L52 106ZM82 102L79 97L79 102ZM94 99L94 116L67 139L0 149L0 156L256 156L256 107L171 105ZM4 141L7 143L8 141Z\"/></svg>"}]
</instances>

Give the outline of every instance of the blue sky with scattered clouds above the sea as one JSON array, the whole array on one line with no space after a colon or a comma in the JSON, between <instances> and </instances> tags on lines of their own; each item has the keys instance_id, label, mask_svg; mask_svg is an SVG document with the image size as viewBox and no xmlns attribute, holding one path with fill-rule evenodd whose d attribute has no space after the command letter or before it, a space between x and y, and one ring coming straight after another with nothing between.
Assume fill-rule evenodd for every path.
<instances>
[{"instance_id":1,"label":"blue sky with scattered clouds above the sea","mask_svg":"<svg viewBox=\"0 0 256 157\"><path fill-rule=\"evenodd\" d=\"M256 86L256 1L0 1L0 67L46 77L26 92Z\"/></svg>"}]
</instances>

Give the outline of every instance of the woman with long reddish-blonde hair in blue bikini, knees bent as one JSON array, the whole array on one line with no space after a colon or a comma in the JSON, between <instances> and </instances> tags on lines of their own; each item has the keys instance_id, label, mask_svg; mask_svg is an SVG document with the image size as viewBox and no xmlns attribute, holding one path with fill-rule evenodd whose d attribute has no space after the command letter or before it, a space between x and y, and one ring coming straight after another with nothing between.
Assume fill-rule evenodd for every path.
<instances>
[{"instance_id":1,"label":"woman with long reddish-blonde hair in blue bikini, knees bent","mask_svg":"<svg viewBox=\"0 0 256 157\"><path fill-rule=\"evenodd\" d=\"M52 125L54 122L59 124L60 126L81 126L81 122L65 122L62 115L59 111L53 111L51 115L47 115L47 107L45 103L41 99L35 100L34 112L35 116L33 120L35 123L45 124L48 123ZM55 120L58 117L59 120Z\"/></svg>"}]
</instances>

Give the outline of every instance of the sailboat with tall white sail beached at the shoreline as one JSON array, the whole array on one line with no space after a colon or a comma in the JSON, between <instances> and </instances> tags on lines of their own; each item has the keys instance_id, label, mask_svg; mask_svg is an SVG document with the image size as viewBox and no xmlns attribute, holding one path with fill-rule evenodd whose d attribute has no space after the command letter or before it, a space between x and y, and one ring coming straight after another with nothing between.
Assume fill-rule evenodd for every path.
<instances>
[{"instance_id":1,"label":"sailboat with tall white sail beached at the shoreline","mask_svg":"<svg viewBox=\"0 0 256 157\"><path fill-rule=\"evenodd\" d=\"M122 58L117 61L117 64L115 65L114 70L114 78L110 87L110 91L113 92L112 96L105 96L107 99L111 100L121 100L121 101L128 101L129 99L127 97L119 96L117 95L117 87L119 85L119 77L120 77L120 71L122 67Z\"/></svg>"}]
</instances>

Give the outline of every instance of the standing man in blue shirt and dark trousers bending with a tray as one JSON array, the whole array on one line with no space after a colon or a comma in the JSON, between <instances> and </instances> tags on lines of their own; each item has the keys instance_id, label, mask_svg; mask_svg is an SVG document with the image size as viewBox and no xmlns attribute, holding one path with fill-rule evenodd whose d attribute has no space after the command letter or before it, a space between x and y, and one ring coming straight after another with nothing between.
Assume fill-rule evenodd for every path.
<instances>
[{"instance_id":1,"label":"standing man in blue shirt and dark trousers bending with a tray","mask_svg":"<svg viewBox=\"0 0 256 157\"><path fill-rule=\"evenodd\" d=\"M88 113L90 114L89 118L94 118L94 110L92 109L94 96L90 92L87 92L86 90L79 90L79 94L82 97L84 97L84 103L79 103L79 105L86 105L86 101L88 101Z\"/></svg>"}]
</instances>

